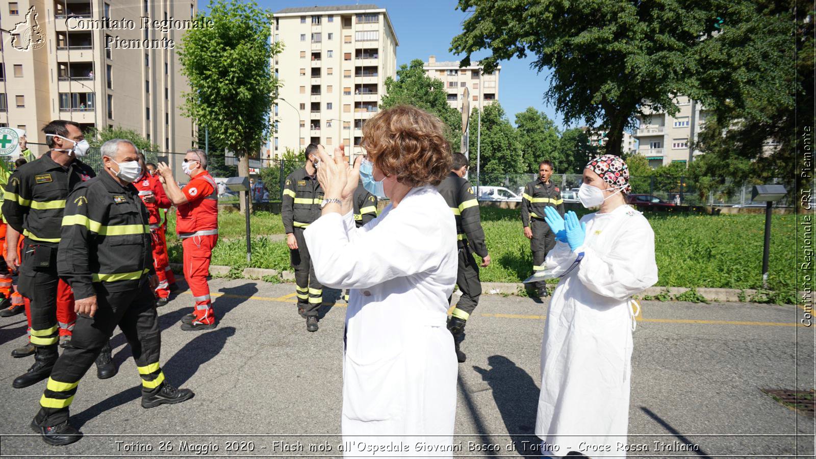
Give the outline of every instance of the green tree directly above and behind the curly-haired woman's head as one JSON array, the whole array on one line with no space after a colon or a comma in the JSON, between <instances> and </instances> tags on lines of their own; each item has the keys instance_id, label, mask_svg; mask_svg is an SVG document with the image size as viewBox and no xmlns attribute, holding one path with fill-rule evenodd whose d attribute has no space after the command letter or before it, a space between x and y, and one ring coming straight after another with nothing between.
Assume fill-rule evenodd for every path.
<instances>
[{"instance_id":1,"label":"green tree directly above and behind the curly-haired woman's head","mask_svg":"<svg viewBox=\"0 0 816 459\"><path fill-rule=\"evenodd\" d=\"M426 75L423 65L422 60L411 60L409 65L400 65L396 80L385 78L386 93L379 105L383 109L396 105L414 105L437 115L447 126L445 137L450 142L450 148L458 151L462 138L462 114L448 105L445 83ZM474 129L472 127L471 132L475 132Z\"/></svg>"}]
</instances>

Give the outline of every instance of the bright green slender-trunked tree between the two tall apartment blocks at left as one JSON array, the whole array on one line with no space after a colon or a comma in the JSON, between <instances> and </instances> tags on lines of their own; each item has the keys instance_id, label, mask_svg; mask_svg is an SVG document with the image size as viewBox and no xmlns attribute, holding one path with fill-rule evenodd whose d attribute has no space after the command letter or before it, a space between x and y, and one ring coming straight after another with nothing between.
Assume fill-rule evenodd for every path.
<instances>
[{"instance_id":1,"label":"bright green slender-trunked tree between the two tall apartment blocks at left","mask_svg":"<svg viewBox=\"0 0 816 459\"><path fill-rule=\"evenodd\" d=\"M271 131L277 78L269 63L282 44L271 42L272 14L255 2L211 0L208 9L213 27L190 29L180 43L181 72L190 85L184 113L234 151L238 174L248 176L248 156ZM244 212L244 199L241 206Z\"/></svg>"}]
</instances>

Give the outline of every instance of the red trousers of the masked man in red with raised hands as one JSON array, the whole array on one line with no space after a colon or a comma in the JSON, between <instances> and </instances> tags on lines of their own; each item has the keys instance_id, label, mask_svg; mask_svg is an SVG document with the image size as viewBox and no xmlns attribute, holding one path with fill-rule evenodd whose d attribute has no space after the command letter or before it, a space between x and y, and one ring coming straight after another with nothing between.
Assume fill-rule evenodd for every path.
<instances>
[{"instance_id":1,"label":"red trousers of the masked man in red with raised hands","mask_svg":"<svg viewBox=\"0 0 816 459\"><path fill-rule=\"evenodd\" d=\"M217 242L218 234L210 234L185 238L181 243L184 248L184 278L196 302L196 321L207 325L215 323L210 284L206 282L206 277L210 274L210 258Z\"/></svg>"}]
</instances>

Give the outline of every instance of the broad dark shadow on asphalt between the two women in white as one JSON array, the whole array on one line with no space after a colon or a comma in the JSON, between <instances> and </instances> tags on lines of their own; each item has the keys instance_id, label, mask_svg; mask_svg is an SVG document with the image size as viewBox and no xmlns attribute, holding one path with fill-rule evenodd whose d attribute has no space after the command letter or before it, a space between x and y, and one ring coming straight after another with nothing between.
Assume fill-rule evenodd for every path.
<instances>
[{"instance_id":1,"label":"broad dark shadow on asphalt between the two women in white","mask_svg":"<svg viewBox=\"0 0 816 459\"><path fill-rule=\"evenodd\" d=\"M541 452L525 448L521 442L538 443L535 436L535 416L539 406L539 386L526 371L503 355L487 358L490 369L476 365L473 370L490 385L496 407L502 415L504 426L516 451L525 457L539 457Z\"/></svg>"}]
</instances>

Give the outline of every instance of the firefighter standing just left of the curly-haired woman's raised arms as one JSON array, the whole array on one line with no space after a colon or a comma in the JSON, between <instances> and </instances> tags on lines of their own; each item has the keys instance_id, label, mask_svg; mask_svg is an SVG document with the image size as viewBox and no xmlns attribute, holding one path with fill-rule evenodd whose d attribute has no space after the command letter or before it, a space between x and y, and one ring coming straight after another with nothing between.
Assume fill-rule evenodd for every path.
<instances>
[{"instance_id":1,"label":"firefighter standing just left of the curly-haired woman's raised arms","mask_svg":"<svg viewBox=\"0 0 816 459\"><path fill-rule=\"evenodd\" d=\"M286 176L283 187L281 216L290 249L290 263L295 269L295 293L298 313L306 319L306 329L317 332L317 312L323 302L323 286L314 274L308 255L304 230L320 218L323 189L317 183L317 145L306 147L306 164Z\"/></svg>"}]
</instances>

